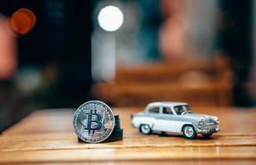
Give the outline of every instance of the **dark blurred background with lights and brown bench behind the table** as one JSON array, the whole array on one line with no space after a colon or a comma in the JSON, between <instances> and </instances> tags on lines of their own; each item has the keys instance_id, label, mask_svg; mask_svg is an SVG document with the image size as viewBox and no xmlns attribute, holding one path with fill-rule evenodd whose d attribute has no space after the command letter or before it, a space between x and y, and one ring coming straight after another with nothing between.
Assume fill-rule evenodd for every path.
<instances>
[{"instance_id":1,"label":"dark blurred background with lights and brown bench behind the table","mask_svg":"<svg viewBox=\"0 0 256 165\"><path fill-rule=\"evenodd\" d=\"M253 0L0 2L0 132L39 108L255 106Z\"/></svg>"}]
</instances>

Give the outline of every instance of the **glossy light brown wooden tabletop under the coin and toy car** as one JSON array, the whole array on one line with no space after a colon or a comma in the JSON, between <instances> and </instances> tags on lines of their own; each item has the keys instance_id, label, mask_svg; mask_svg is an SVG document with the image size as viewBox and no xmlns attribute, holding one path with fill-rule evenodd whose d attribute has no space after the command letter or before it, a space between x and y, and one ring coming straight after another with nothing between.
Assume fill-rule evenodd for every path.
<instances>
[{"instance_id":1,"label":"glossy light brown wooden tabletop under the coin and toy car","mask_svg":"<svg viewBox=\"0 0 256 165\"><path fill-rule=\"evenodd\" d=\"M123 140L85 144L73 131L74 110L35 111L0 135L0 163L256 164L256 109L195 109L219 116L220 133L195 140L144 135L130 123L130 115L140 108L114 108L121 118Z\"/></svg>"}]
</instances>

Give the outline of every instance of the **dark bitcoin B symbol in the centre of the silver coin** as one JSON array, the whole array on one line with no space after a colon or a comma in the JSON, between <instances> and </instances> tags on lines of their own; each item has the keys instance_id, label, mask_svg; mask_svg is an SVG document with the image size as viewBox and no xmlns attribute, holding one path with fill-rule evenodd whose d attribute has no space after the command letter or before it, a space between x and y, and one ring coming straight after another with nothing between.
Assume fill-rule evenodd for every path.
<instances>
[{"instance_id":1,"label":"dark bitcoin B symbol in the centre of the silver coin","mask_svg":"<svg viewBox=\"0 0 256 165\"><path fill-rule=\"evenodd\" d=\"M88 115L88 120L87 120L87 127L85 128L85 130L88 130L88 134L90 134L90 131L92 130L94 134L95 130L100 130L102 127L102 123L101 123L101 115L99 115L98 113L96 113L96 110L91 110L90 113L86 114ZM96 116L96 119L93 120L92 117ZM96 123L97 127L92 128L92 123Z\"/></svg>"}]
</instances>

